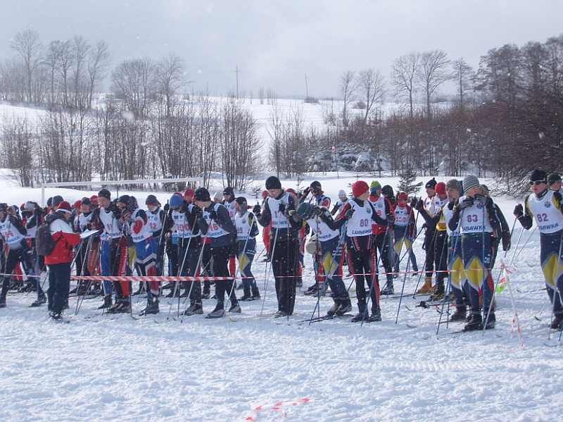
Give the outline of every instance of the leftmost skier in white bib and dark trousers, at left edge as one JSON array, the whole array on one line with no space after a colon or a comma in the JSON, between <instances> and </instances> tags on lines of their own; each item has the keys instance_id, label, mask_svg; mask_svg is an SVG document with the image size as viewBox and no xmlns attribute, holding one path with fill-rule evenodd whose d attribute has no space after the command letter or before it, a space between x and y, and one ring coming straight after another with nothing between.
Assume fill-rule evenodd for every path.
<instances>
[{"instance_id":1,"label":"leftmost skier in white bib and dark trousers, at left edge","mask_svg":"<svg viewBox=\"0 0 563 422\"><path fill-rule=\"evenodd\" d=\"M6 263L4 264L4 274L6 275L2 276L0 308L6 307L6 294L8 294L10 287L11 274L20 262L27 275L36 275L33 271L31 251L25 240L27 230L25 230L20 218L16 217L14 213L8 213L8 208L7 204L0 204L0 236L4 240L4 244L8 246L8 256L6 256ZM31 306L44 304L46 297L41 288L41 283L39 283L39 278L32 277L30 283L37 290L37 299Z\"/></svg>"}]
</instances>

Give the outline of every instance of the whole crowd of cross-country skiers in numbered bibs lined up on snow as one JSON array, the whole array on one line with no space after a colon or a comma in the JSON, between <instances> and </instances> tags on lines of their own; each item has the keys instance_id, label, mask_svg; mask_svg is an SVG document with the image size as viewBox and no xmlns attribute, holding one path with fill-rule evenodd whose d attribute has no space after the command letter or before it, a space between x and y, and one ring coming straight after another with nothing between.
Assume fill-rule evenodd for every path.
<instances>
[{"instance_id":1,"label":"whole crowd of cross-country skiers in numbered bibs lined up on snow","mask_svg":"<svg viewBox=\"0 0 563 422\"><path fill-rule=\"evenodd\" d=\"M560 328L561 178L534 170L530 185L533 194L526 197L524 206L516 206L514 216L525 229L536 220L541 265L554 313L552 328ZM166 272L166 254L168 275L216 278L216 305L206 318L225 315L225 296L230 302L228 311L241 312L239 302L260 299L251 269L260 225L274 275L278 304L275 317L293 314L307 250L314 256L315 283L305 294L320 296L330 287L330 318L352 311L349 287L343 282L343 266L347 265L358 303L358 313L351 321L381 321L380 297L394 294L393 280L418 275L420 281L424 275L417 294L428 294L433 301L445 300L450 294L448 301L451 298L456 307L451 321L466 321L464 330L494 328L495 283L491 270L498 249L510 249L511 232L488 188L474 175L462 181L437 182L433 178L426 182L424 199L409 197L405 192L395 196L391 186L358 180L351 185L351 195L341 190L332 207L318 181L296 192L284 189L278 178L270 176L265 188L262 204L253 206L252 211L244 197L235 197L231 187L213 199L205 187L176 192L165 206L153 194L141 207L135 197L112 199L106 189L73 206L60 196L49 199L45 209L32 201L21 207L0 204L4 248L0 307L6 306L8 290L33 290L37 299L32 306L48 302L50 315L61 318L68 307L72 263L76 274L83 276L127 277L134 272L159 276ZM424 220L420 230L419 218ZM419 271L412 244L423 230L426 256L424 269ZM405 256L406 268L400 272ZM27 275L26 285L22 275L13 275L20 263ZM46 295L39 283L45 265L49 268ZM383 287L379 285L379 266L384 268ZM235 294L235 280L241 280L240 298ZM199 280L167 285L151 281L139 283L137 292L132 292L127 278L101 284L85 279L70 293L103 296L99 309L108 313L131 312L131 296L145 293L146 307L141 314L157 314L160 295L170 289L168 297L189 300L183 314L191 316L203 314L203 299L210 298L210 285Z\"/></svg>"}]
</instances>

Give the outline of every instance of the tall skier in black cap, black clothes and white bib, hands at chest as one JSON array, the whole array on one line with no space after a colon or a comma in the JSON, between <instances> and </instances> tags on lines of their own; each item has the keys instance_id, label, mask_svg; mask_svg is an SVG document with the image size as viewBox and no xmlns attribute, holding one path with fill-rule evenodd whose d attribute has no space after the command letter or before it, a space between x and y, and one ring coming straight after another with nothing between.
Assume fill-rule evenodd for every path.
<instances>
[{"instance_id":1,"label":"tall skier in black cap, black clothes and white bib, hands at chest","mask_svg":"<svg viewBox=\"0 0 563 422\"><path fill-rule=\"evenodd\" d=\"M253 213L262 227L272 224L272 270L276 285L278 311L276 317L293 314L296 294L296 269L298 265L298 223L288 218L289 211L296 209L291 194L281 189L275 176L266 179L269 197L260 209L254 206Z\"/></svg>"}]
</instances>

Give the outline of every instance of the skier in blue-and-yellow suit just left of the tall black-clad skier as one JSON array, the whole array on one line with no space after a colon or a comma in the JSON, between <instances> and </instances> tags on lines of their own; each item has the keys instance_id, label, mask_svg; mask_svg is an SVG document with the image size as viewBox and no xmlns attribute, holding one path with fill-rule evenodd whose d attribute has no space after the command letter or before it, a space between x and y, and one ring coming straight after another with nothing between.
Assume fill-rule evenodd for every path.
<instances>
[{"instance_id":1,"label":"skier in blue-and-yellow suit just left of the tall black-clad skier","mask_svg":"<svg viewBox=\"0 0 563 422\"><path fill-rule=\"evenodd\" d=\"M256 254L256 236L258 222L253 213L248 211L248 204L244 197L236 198L236 215L234 217L236 227L236 256L239 259L239 272L243 285L243 296L241 302L260 299L258 285L252 274L252 261Z\"/></svg>"}]
</instances>

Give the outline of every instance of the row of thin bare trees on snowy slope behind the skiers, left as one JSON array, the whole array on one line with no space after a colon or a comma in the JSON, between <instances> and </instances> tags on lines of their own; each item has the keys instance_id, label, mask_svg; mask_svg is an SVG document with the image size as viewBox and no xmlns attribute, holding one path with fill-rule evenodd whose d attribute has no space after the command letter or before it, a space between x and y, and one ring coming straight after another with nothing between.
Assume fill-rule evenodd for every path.
<instances>
[{"instance_id":1,"label":"row of thin bare trees on snowy slope behind the skiers, left","mask_svg":"<svg viewBox=\"0 0 563 422\"><path fill-rule=\"evenodd\" d=\"M260 142L253 116L236 99L194 97L148 118L132 118L108 101L95 113L47 111L40 118L1 123L0 166L23 186L40 182L209 178L245 188L258 167Z\"/></svg>"}]
</instances>

